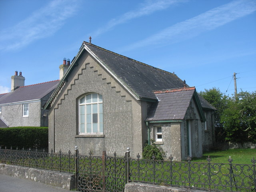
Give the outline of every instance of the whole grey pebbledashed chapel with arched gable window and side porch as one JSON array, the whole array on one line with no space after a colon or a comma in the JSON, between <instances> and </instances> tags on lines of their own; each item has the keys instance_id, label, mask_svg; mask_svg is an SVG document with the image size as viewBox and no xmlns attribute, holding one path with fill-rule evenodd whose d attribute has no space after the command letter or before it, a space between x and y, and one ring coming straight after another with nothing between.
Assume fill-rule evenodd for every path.
<instances>
[{"instance_id":1,"label":"whole grey pebbledashed chapel with arched gable window and side porch","mask_svg":"<svg viewBox=\"0 0 256 192\"><path fill-rule=\"evenodd\" d=\"M44 109L49 149L123 156L151 139L174 160L214 144L214 111L174 73L83 42Z\"/></svg>"}]
</instances>

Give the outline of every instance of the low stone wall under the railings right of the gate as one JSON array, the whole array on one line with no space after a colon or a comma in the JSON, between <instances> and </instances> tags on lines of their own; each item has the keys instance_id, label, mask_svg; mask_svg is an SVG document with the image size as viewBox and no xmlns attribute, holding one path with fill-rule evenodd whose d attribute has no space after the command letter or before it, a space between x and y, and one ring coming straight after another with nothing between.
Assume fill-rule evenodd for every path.
<instances>
[{"instance_id":1,"label":"low stone wall under the railings right of the gate","mask_svg":"<svg viewBox=\"0 0 256 192\"><path fill-rule=\"evenodd\" d=\"M207 192L189 188L178 188L170 186L159 186L139 182L131 182L125 185L124 192Z\"/></svg>"}]
</instances>

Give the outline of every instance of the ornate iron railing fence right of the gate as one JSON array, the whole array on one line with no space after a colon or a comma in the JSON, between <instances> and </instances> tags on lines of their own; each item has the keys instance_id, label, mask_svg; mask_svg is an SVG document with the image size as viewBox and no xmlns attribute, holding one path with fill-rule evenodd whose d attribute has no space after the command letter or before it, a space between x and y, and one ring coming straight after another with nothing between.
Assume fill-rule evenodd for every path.
<instances>
[{"instance_id":1,"label":"ornate iron railing fence right of the gate","mask_svg":"<svg viewBox=\"0 0 256 192\"><path fill-rule=\"evenodd\" d=\"M153 157L154 158L154 157ZM170 161L130 160L130 181L161 184L168 186L184 186L193 189L210 191L256 191L256 160L252 164L211 163L207 162L175 162Z\"/></svg>"}]
</instances>

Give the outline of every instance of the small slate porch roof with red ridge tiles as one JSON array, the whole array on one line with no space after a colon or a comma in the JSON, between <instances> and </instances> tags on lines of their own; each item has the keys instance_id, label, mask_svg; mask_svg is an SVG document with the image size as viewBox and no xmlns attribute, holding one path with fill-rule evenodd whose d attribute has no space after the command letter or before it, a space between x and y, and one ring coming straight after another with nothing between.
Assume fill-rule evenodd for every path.
<instances>
[{"instance_id":1,"label":"small slate porch roof with red ridge tiles","mask_svg":"<svg viewBox=\"0 0 256 192\"><path fill-rule=\"evenodd\" d=\"M156 91L159 101L151 106L146 121L183 120L194 92L194 87Z\"/></svg>"}]
</instances>

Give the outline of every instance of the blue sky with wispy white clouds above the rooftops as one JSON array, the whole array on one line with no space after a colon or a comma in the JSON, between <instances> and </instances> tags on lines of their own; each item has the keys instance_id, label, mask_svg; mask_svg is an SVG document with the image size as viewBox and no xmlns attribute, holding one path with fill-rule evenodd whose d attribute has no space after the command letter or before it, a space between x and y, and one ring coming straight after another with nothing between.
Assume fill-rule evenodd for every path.
<instances>
[{"instance_id":1,"label":"blue sky with wispy white clouds above the rooftops","mask_svg":"<svg viewBox=\"0 0 256 192\"><path fill-rule=\"evenodd\" d=\"M57 80L83 41L174 72L196 90L256 90L256 0L0 0L0 93ZM227 92L226 92L227 90Z\"/></svg>"}]
</instances>

